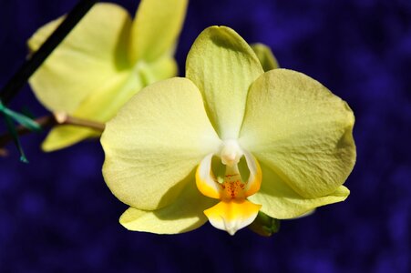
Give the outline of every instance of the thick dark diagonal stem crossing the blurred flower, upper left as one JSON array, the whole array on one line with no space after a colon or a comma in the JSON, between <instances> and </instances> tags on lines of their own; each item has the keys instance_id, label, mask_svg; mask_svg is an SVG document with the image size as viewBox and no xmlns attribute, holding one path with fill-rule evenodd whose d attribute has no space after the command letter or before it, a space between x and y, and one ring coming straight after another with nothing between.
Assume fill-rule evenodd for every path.
<instances>
[{"instance_id":1,"label":"thick dark diagonal stem crossing the blurred flower, upper left","mask_svg":"<svg viewBox=\"0 0 411 273\"><path fill-rule=\"evenodd\" d=\"M26 63L21 66L14 76L7 82L0 92L0 99L8 104L15 95L26 84L28 78L32 76L36 69L43 64L47 56L64 40L68 33L77 25L77 23L87 14L88 10L96 4L97 0L81 0L67 15L66 20L59 25L56 31L50 35L46 42L31 56Z\"/></svg>"}]
</instances>

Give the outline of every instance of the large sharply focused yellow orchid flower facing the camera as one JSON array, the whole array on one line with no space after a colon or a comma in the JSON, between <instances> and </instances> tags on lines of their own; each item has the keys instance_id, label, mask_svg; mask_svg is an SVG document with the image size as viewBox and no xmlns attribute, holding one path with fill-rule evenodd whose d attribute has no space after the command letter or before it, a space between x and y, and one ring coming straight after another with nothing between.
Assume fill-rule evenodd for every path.
<instances>
[{"instance_id":1,"label":"large sharply focused yellow orchid flower facing the camera","mask_svg":"<svg viewBox=\"0 0 411 273\"><path fill-rule=\"evenodd\" d=\"M173 234L209 220L232 235L259 210L293 218L349 195L354 115L341 98L292 70L264 73L224 26L199 35L186 67L133 96L101 138L124 227Z\"/></svg>"}]
</instances>

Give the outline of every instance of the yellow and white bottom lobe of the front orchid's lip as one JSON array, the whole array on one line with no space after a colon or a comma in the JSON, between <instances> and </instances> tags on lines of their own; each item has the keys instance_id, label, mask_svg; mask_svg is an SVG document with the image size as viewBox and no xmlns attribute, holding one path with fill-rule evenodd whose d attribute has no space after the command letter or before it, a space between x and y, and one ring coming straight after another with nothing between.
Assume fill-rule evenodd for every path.
<instances>
[{"instance_id":1,"label":"yellow and white bottom lobe of the front orchid's lip","mask_svg":"<svg viewBox=\"0 0 411 273\"><path fill-rule=\"evenodd\" d=\"M242 227L247 227L257 217L261 205L247 200L221 201L219 204L204 210L213 227L225 230L230 235Z\"/></svg>"}]
</instances>

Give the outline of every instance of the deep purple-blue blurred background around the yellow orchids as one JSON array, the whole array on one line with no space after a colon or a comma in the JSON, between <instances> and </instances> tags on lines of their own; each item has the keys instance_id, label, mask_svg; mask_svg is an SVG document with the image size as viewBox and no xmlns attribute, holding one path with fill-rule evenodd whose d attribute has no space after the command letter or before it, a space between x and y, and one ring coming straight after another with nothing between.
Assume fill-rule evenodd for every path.
<instances>
[{"instance_id":1,"label":"deep purple-blue blurred background around the yellow orchids","mask_svg":"<svg viewBox=\"0 0 411 273\"><path fill-rule=\"evenodd\" d=\"M74 3L0 0L0 86L23 62L26 39ZM118 3L134 13L138 1ZM354 109L351 196L283 221L272 238L247 229L230 237L208 224L176 236L128 232L118 224L126 206L101 177L98 142L44 154L45 134L26 136L31 164L12 146L0 158L0 271L410 272L410 21L409 0L191 1L181 68L203 28L229 25ZM27 86L12 106L46 113Z\"/></svg>"}]
</instances>

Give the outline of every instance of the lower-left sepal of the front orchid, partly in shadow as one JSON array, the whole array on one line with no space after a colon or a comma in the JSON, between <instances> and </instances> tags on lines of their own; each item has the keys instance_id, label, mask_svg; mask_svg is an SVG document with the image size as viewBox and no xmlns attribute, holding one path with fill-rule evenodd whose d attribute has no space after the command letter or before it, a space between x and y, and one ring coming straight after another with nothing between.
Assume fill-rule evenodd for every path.
<instances>
[{"instance_id":1,"label":"lower-left sepal of the front orchid, partly in shadow","mask_svg":"<svg viewBox=\"0 0 411 273\"><path fill-rule=\"evenodd\" d=\"M191 180L169 206L153 211L129 207L120 217L120 223L134 231L158 234L187 232L207 222L203 210L215 203L215 200L203 197Z\"/></svg>"}]
</instances>

